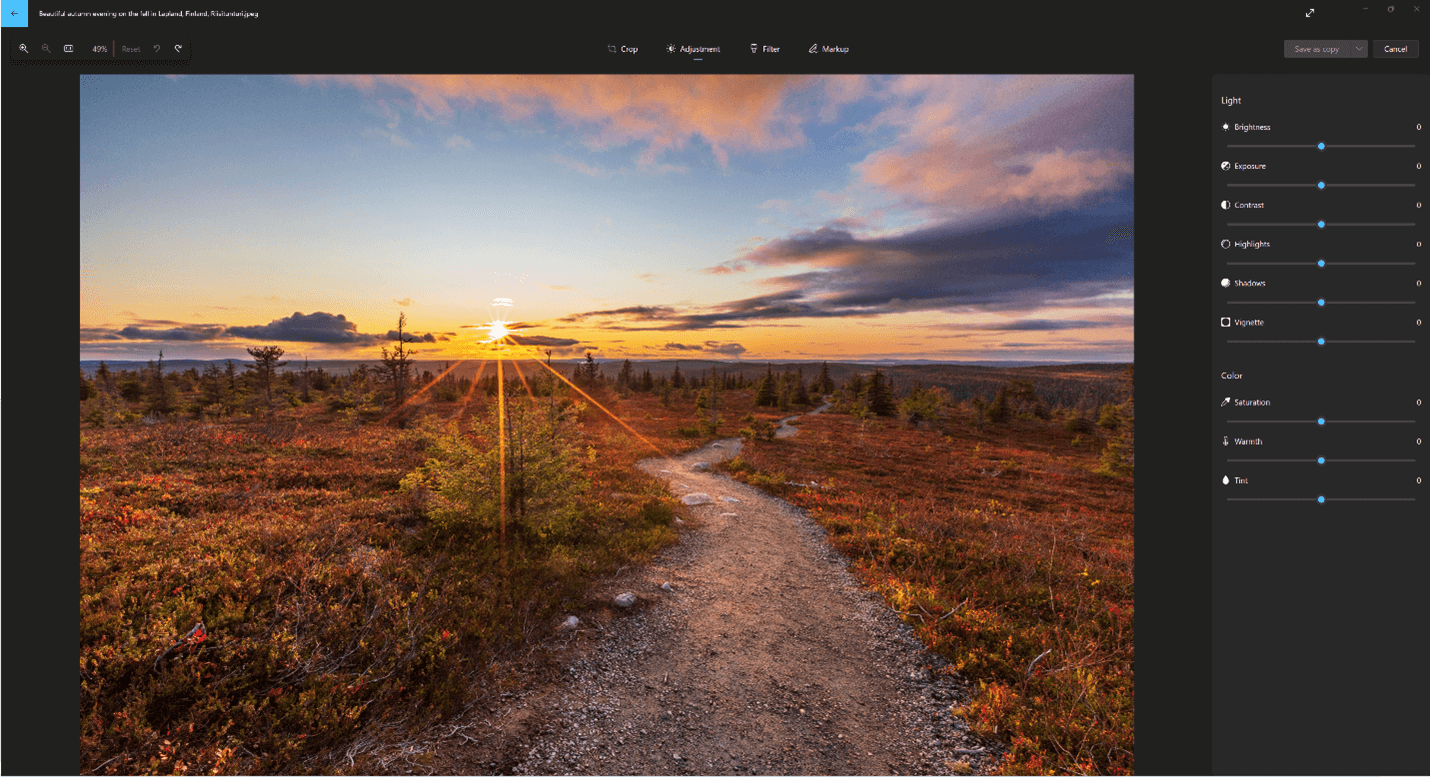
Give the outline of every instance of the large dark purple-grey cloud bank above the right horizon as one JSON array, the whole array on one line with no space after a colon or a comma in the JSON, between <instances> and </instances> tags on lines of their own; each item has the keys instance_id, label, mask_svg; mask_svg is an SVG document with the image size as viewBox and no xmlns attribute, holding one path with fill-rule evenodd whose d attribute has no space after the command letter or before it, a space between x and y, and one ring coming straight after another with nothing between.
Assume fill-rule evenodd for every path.
<instances>
[{"instance_id":1,"label":"large dark purple-grey cloud bank above the right horizon","mask_svg":"<svg viewBox=\"0 0 1430 777\"><path fill-rule=\"evenodd\" d=\"M1100 326L1065 323L1048 312L1131 308L1133 240L1105 240L1108 230L1131 225L1131 212L1133 192L1127 189L1111 202L1080 210L990 213L879 238L821 226L721 265L785 270L759 280L774 288L768 293L701 308L592 311L562 321L595 319L608 329L698 331L771 326L784 319L1011 312L1031 318L1000 328Z\"/></svg>"}]
</instances>

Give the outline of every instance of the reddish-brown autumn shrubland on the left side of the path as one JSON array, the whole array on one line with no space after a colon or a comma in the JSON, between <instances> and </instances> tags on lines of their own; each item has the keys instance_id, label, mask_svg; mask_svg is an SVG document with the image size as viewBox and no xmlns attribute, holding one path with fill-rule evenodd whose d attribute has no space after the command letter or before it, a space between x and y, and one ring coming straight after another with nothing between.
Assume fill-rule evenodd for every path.
<instances>
[{"instance_id":1,"label":"reddish-brown autumn shrubland on the left side of the path","mask_svg":"<svg viewBox=\"0 0 1430 777\"><path fill-rule=\"evenodd\" d=\"M552 428L529 421L513 421L508 446L508 464L525 456L532 477L508 502L528 531L505 542L488 484L468 481L486 488L473 502L485 512L459 514L443 468L428 466L473 462L490 478L485 406L409 431L305 421L267 435L266 421L243 419L86 429L82 770L378 771L343 754L458 714L493 661L579 607L595 575L675 541L674 498L633 466L652 455L645 444L568 419L543 471L536 452L553 445ZM402 488L419 471L426 501ZM439 519L440 499L452 519Z\"/></svg>"}]
</instances>

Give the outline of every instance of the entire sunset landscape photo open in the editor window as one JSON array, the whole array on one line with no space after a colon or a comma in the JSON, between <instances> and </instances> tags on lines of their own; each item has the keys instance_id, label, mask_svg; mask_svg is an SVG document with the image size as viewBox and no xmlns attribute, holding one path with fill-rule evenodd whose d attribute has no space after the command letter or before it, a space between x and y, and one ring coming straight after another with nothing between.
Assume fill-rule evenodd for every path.
<instances>
[{"instance_id":1,"label":"entire sunset landscape photo open in the editor window","mask_svg":"<svg viewBox=\"0 0 1430 777\"><path fill-rule=\"evenodd\" d=\"M84 774L1134 774L1133 77L84 76Z\"/></svg>"}]
</instances>

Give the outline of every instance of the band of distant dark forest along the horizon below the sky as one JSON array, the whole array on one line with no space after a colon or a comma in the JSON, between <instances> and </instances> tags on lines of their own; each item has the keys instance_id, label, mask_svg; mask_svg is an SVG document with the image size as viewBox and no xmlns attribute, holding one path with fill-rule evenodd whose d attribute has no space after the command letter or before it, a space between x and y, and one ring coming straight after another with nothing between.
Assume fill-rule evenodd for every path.
<instances>
[{"instance_id":1,"label":"band of distant dark forest along the horizon below the sky","mask_svg":"<svg viewBox=\"0 0 1430 777\"><path fill-rule=\"evenodd\" d=\"M275 355L276 351L276 355ZM232 415L250 409L259 401L273 406L283 402L325 401L332 409L353 405L385 404L400 394L430 392L433 399L456 399L468 394L478 378L480 362L406 361L315 361L289 358L277 361L282 349L267 349L260 359L164 361L150 362L80 362L80 401L100 395L123 398L160 415L193 416ZM1127 363L1074 363L1040 366L980 366L960 363L869 365L851 362L715 362L715 361L585 361L551 362L576 383L609 386L618 392L656 392L708 388L718 379L719 391L756 389L771 406L802 406L821 396L835 395L851 383L859 386L875 372L894 401L919 389L940 388L955 404L994 402L1000 389L1018 386L1027 399L1048 409L1081 414L1095 412L1120 402L1121 378ZM532 388L546 386L545 371L531 361L516 361ZM526 365L526 366L522 366ZM400 366L400 369L395 369ZM712 372L714 369L714 372ZM399 375L400 372L400 375ZM488 368L478 388L496 394L496 376ZM714 378L712 378L714 375ZM509 376L509 391L526 391L522 381ZM549 392L549 388L545 389ZM1031 394L1030 394L1031 392ZM854 394L858 394L855 391Z\"/></svg>"}]
</instances>

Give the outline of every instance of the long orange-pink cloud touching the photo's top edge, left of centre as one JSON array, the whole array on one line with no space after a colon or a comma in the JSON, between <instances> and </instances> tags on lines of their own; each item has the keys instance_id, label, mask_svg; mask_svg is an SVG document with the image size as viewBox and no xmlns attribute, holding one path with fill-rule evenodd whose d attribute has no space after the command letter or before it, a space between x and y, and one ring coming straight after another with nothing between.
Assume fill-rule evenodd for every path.
<instances>
[{"instance_id":1,"label":"long orange-pink cloud touching the photo's top edge, left of centre","mask_svg":"<svg viewBox=\"0 0 1430 777\"><path fill-rule=\"evenodd\" d=\"M458 110L496 109L508 122L553 117L573 127L592 150L642 146L636 166L664 173L684 169L662 163L671 150L694 142L709 146L724 167L732 153L764 153L802 146L802 102L822 90L824 116L862 99L855 79L812 76L293 76L300 84L342 84L372 94L379 103L399 94L410 110L432 122L449 122ZM390 129L390 127L389 127Z\"/></svg>"}]
</instances>

